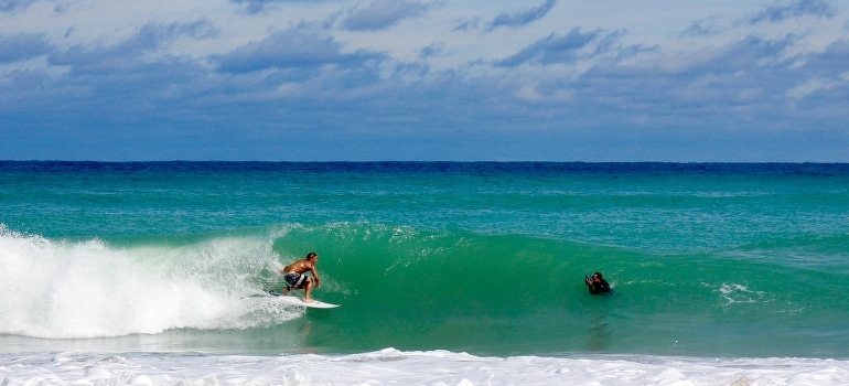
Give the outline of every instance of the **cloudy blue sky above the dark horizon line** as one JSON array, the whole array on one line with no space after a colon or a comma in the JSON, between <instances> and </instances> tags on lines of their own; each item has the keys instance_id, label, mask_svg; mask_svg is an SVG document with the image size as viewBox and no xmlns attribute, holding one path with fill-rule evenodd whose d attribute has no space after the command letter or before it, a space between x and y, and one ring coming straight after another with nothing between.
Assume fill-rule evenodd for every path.
<instances>
[{"instance_id":1,"label":"cloudy blue sky above the dark horizon line","mask_svg":"<svg viewBox=\"0 0 849 386\"><path fill-rule=\"evenodd\" d=\"M0 160L849 162L849 2L0 0Z\"/></svg>"}]
</instances>

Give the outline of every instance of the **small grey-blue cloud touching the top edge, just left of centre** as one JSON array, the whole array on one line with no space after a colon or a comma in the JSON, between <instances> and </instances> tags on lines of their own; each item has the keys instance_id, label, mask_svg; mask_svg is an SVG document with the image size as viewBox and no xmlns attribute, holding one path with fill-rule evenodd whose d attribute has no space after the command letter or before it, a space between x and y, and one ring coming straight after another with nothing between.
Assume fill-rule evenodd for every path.
<instances>
[{"instance_id":1,"label":"small grey-blue cloud touching the top edge, just left of centre","mask_svg":"<svg viewBox=\"0 0 849 386\"><path fill-rule=\"evenodd\" d=\"M405 19L417 18L431 4L409 0L374 0L368 8L354 9L342 21L342 28L353 31L377 31Z\"/></svg>"}]
</instances>

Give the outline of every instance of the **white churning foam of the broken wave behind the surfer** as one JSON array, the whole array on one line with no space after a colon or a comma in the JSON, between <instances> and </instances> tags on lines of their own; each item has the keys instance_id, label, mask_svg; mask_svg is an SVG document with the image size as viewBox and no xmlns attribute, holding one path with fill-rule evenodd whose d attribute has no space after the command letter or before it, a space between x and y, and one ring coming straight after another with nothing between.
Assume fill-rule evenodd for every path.
<instances>
[{"instance_id":1,"label":"white churning foam of the broken wave behind the surfer","mask_svg":"<svg viewBox=\"0 0 849 386\"><path fill-rule=\"evenodd\" d=\"M0 227L0 334L92 339L261 328L299 318L301 310L251 297L260 288L239 277L261 270L269 250L252 239L224 237L118 248Z\"/></svg>"}]
</instances>

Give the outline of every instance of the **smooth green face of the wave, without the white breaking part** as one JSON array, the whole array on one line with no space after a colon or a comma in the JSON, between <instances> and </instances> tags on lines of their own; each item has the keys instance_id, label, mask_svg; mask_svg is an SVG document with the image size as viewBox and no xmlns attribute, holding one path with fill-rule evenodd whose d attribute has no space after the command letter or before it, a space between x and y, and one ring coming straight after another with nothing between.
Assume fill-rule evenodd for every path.
<instances>
[{"instance_id":1,"label":"smooth green face of the wave, without the white breaking part","mask_svg":"<svg viewBox=\"0 0 849 386\"><path fill-rule=\"evenodd\" d=\"M841 325L839 275L750 258L740 250L658 254L520 234L340 223L293 227L273 243L320 254L314 297L343 304L310 315L312 344L404 350L754 351L776 335ZM583 276L602 271L609 296ZM825 311L825 312L824 312ZM741 349L719 336L751 341ZM839 330L842 333L845 331ZM786 345L828 345L825 336ZM688 349L676 342L688 342ZM834 343L831 343L834 344ZM786 347L784 347L786 349ZM821 345L819 346L821 349Z\"/></svg>"}]
</instances>

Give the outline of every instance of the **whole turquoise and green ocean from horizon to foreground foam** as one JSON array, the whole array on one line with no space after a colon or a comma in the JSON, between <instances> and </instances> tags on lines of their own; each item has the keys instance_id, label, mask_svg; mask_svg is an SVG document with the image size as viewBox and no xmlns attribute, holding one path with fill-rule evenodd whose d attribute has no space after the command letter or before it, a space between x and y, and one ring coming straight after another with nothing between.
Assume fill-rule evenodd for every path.
<instances>
[{"instance_id":1,"label":"whole turquoise and green ocean from horizon to foreground foam","mask_svg":"<svg viewBox=\"0 0 849 386\"><path fill-rule=\"evenodd\" d=\"M849 164L0 162L2 385L845 385L848 292Z\"/></svg>"}]
</instances>

